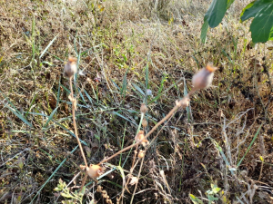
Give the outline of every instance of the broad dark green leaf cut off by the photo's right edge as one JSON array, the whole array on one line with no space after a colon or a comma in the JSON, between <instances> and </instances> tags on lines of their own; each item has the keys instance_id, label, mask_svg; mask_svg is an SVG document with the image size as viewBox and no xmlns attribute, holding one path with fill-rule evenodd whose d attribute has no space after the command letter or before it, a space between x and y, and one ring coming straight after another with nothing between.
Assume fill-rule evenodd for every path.
<instances>
[{"instance_id":1,"label":"broad dark green leaf cut off by the photo's right edge","mask_svg":"<svg viewBox=\"0 0 273 204\"><path fill-rule=\"evenodd\" d=\"M250 24L253 43L266 43L273 36L273 1L264 7Z\"/></svg>"}]
</instances>

